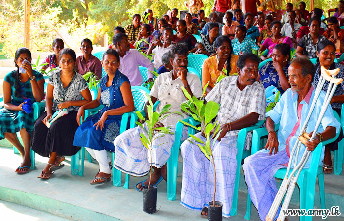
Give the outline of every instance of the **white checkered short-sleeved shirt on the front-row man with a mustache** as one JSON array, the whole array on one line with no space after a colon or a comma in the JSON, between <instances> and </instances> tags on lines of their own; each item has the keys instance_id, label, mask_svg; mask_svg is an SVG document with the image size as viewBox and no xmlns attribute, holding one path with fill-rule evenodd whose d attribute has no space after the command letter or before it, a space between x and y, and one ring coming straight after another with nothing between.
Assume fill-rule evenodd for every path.
<instances>
[{"instance_id":1,"label":"white checkered short-sleeved shirt on the front-row man with a mustache","mask_svg":"<svg viewBox=\"0 0 344 221\"><path fill-rule=\"evenodd\" d=\"M238 120L249 113L258 113L259 120L265 119L265 91L257 81L242 91L237 86L239 76L222 79L205 97L207 101L220 104L217 120L220 125ZM229 133L238 135L239 130Z\"/></svg>"}]
</instances>

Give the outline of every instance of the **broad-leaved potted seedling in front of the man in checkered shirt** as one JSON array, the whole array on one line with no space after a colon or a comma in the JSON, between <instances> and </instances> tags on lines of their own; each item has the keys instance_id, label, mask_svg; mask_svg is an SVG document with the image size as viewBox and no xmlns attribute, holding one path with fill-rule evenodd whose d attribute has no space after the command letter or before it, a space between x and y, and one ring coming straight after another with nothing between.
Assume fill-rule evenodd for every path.
<instances>
[{"instance_id":1,"label":"broad-leaved potted seedling in front of the man in checkered shirt","mask_svg":"<svg viewBox=\"0 0 344 221\"><path fill-rule=\"evenodd\" d=\"M190 137L194 138L197 141L197 146L200 150L204 153L205 157L209 159L212 163L214 168L214 194L213 194L213 201L209 202L209 209L208 209L208 220L209 221L221 221L222 220L222 203L219 201L215 201L215 193L216 193L216 168L214 162L214 156L212 153L212 148L214 148L215 140L219 138L220 133L220 125L218 121L212 123L212 120L216 117L219 111L219 104L214 101L208 101L206 104L204 102L204 94L205 88L208 86L209 83L206 84L203 90L203 96L198 99L195 96L191 97L190 94L187 92L185 88L182 88L185 97L188 99L187 101L183 102L181 105L181 109L188 113L189 115L194 118L194 120L201 123L201 126L196 127L188 122L180 120L183 124L194 128L197 131L201 131L203 136L206 138L206 141L202 141L200 138L190 134ZM210 145L210 140L214 139L212 146ZM189 140L190 142L193 142ZM215 202L215 203L214 203Z\"/></svg>"}]
</instances>

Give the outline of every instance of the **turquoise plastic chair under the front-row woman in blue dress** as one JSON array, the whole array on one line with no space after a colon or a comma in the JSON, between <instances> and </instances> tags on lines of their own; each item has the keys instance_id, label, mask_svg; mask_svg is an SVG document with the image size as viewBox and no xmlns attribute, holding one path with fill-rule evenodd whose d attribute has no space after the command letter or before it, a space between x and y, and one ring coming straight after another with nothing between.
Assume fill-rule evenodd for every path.
<instances>
[{"instance_id":1,"label":"turquoise plastic chair under the front-row woman in blue dress","mask_svg":"<svg viewBox=\"0 0 344 221\"><path fill-rule=\"evenodd\" d=\"M133 94L135 110L142 110L145 102L148 100L146 98L145 94L146 93L149 94L149 90L145 87L142 87L142 86L132 86L131 92ZM85 119L88 116L92 116L92 115L96 114L99 110L103 109L103 107L104 106L101 105L98 108L85 110ZM122 120L121 120L121 125L120 125L120 133L124 132L127 129L129 117L133 113L135 113L135 111L129 112L129 113L124 113L122 115ZM135 121L130 121L130 123L131 123L130 125L135 124ZM114 154L115 153L113 153L113 162L114 162L114 158L115 158ZM80 167L80 169L78 171L78 175L83 176L84 175L84 161L85 161L85 157L84 157L85 156L85 148L84 147L81 148L81 154L80 155L81 155L80 166L79 166L79 161L78 161L79 158L78 157L73 159L73 160L75 160L75 162L72 161L72 165L78 165L78 166L75 166L75 168L78 168L78 169ZM92 162L92 160L91 160L92 158L88 152L87 152L87 156L88 156L88 161ZM115 168L113 168L113 177L114 177L113 184L114 184L114 186L120 186L121 185L120 182L118 185L118 183L115 180L115 175L118 176L118 174L119 174L119 176L121 176L121 172L116 170Z\"/></svg>"}]
</instances>

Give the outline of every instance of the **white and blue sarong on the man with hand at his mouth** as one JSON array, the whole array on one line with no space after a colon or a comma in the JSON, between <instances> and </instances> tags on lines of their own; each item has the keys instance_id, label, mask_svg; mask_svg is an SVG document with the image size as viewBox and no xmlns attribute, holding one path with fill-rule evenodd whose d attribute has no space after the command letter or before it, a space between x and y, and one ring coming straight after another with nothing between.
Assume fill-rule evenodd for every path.
<instances>
[{"instance_id":1,"label":"white and blue sarong on the man with hand at his mouth","mask_svg":"<svg viewBox=\"0 0 344 221\"><path fill-rule=\"evenodd\" d=\"M146 128L146 123L143 124ZM171 128L175 132L175 126ZM144 176L150 171L150 152L141 140L143 129L139 126L126 130L115 138L115 168L132 176ZM187 129L184 127L182 140L187 138ZM174 144L174 134L157 133L153 138L152 165L161 168L167 162Z\"/></svg>"}]
</instances>

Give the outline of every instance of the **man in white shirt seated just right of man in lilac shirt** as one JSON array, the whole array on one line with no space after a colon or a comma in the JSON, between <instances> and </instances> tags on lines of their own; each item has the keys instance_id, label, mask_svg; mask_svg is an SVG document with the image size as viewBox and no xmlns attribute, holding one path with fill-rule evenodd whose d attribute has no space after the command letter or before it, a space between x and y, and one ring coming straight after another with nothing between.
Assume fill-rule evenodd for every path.
<instances>
[{"instance_id":1,"label":"man in white shirt seated just right of man in lilac shirt","mask_svg":"<svg viewBox=\"0 0 344 221\"><path fill-rule=\"evenodd\" d=\"M152 44L150 44L149 49L147 50L147 55L154 53L154 67L159 69L163 65L161 58L166 53L169 52L173 46L172 44L173 29L165 28L160 39L157 39ZM163 42L162 42L163 41ZM155 48L154 48L155 47ZM154 48L154 49L153 49ZM150 81L151 79L148 79Z\"/></svg>"}]
</instances>

